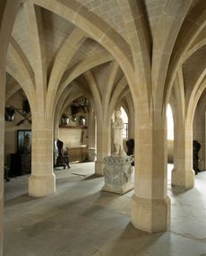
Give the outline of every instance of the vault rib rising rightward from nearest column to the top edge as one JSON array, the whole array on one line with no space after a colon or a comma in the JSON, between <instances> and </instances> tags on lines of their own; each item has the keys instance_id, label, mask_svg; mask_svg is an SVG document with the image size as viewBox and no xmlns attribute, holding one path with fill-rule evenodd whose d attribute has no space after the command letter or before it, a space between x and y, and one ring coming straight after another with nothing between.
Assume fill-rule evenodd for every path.
<instances>
[{"instance_id":1,"label":"vault rib rising rightward from nearest column to the top edge","mask_svg":"<svg viewBox=\"0 0 206 256\"><path fill-rule=\"evenodd\" d=\"M163 106L167 70L181 25L191 7L190 1L167 1L153 44L152 77L154 103Z\"/></svg>"}]
</instances>

